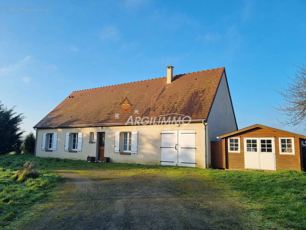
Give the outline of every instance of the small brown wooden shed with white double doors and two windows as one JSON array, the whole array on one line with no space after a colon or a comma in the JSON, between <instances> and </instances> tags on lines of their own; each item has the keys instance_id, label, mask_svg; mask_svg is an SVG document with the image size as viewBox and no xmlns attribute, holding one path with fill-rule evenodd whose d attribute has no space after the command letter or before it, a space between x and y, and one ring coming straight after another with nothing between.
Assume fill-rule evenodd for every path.
<instances>
[{"instance_id":1,"label":"small brown wooden shed with white double doors and two windows","mask_svg":"<svg viewBox=\"0 0 306 230\"><path fill-rule=\"evenodd\" d=\"M218 139L222 142L218 143L220 148L215 154L212 150L212 164L222 168L272 171L301 171L303 168L304 135L256 124L218 136Z\"/></svg>"}]
</instances>

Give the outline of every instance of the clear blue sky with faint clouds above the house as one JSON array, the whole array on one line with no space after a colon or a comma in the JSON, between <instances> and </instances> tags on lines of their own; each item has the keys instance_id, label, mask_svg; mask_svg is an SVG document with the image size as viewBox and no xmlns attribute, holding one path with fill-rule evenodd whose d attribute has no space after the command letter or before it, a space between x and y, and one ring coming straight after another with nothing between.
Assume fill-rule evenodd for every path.
<instances>
[{"instance_id":1,"label":"clear blue sky with faint clouds above the house","mask_svg":"<svg viewBox=\"0 0 306 230\"><path fill-rule=\"evenodd\" d=\"M27 132L73 90L226 67L238 128L292 132L274 91L305 62L304 1L2 1L0 100ZM8 8L9 12L6 12ZM49 9L50 12L11 12ZM179 89L178 89L179 90Z\"/></svg>"}]
</instances>

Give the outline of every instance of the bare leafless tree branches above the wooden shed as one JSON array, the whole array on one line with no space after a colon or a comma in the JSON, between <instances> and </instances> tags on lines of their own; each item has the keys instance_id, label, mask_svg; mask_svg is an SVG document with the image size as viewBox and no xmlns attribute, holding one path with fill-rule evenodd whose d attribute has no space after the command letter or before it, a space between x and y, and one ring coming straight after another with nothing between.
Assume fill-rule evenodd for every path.
<instances>
[{"instance_id":1,"label":"bare leafless tree branches above the wooden shed","mask_svg":"<svg viewBox=\"0 0 306 230\"><path fill-rule=\"evenodd\" d=\"M289 83L288 88L275 90L284 100L283 104L278 104L279 107L276 109L286 115L285 120L280 121L282 124L306 126L306 65L302 63L297 67L295 78L289 77L292 82Z\"/></svg>"}]
</instances>

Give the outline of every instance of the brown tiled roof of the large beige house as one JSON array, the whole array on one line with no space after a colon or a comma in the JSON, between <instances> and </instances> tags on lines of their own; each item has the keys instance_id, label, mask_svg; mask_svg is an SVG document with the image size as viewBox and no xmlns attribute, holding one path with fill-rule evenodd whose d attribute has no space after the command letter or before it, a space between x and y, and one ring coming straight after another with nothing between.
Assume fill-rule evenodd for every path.
<instances>
[{"instance_id":1,"label":"brown tiled roof of the large beige house","mask_svg":"<svg viewBox=\"0 0 306 230\"><path fill-rule=\"evenodd\" d=\"M129 116L158 117L179 113L192 120L207 119L225 68L175 75L173 82L156 78L113 86L73 91L34 128L122 124ZM121 102L132 106L122 113ZM138 114L134 115L134 109ZM119 119L115 119L115 113Z\"/></svg>"}]
</instances>

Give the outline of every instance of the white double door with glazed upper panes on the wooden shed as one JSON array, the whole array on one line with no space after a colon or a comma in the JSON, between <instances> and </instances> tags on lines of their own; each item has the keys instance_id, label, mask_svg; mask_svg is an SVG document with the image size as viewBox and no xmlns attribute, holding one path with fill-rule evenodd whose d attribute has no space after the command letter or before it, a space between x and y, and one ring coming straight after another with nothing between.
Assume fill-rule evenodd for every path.
<instances>
[{"instance_id":1,"label":"white double door with glazed upper panes on the wooden shed","mask_svg":"<svg viewBox=\"0 0 306 230\"><path fill-rule=\"evenodd\" d=\"M274 138L244 137L244 166L247 169L276 170Z\"/></svg>"}]
</instances>

